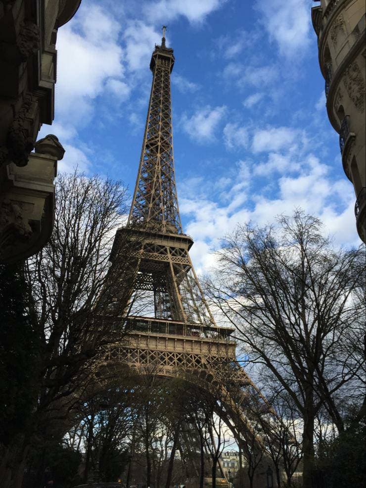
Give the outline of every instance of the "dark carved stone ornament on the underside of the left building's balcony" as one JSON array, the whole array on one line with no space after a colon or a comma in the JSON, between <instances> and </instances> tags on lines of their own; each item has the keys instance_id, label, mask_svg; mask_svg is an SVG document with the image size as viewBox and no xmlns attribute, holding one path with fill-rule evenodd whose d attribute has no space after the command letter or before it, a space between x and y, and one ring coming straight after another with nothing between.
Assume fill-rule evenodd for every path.
<instances>
[{"instance_id":1,"label":"dark carved stone ornament on the underside of the left building's balcony","mask_svg":"<svg viewBox=\"0 0 366 488\"><path fill-rule=\"evenodd\" d=\"M22 203L5 198L0 206L0 249L27 242L31 236L32 228L23 215Z\"/></svg>"}]
</instances>

